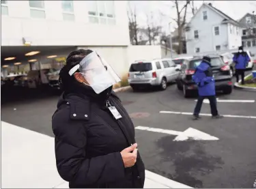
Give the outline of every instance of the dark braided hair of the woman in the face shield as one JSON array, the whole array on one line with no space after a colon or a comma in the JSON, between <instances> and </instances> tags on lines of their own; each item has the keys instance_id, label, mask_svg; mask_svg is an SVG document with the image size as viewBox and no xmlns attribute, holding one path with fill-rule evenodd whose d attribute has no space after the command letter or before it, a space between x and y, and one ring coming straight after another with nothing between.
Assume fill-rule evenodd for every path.
<instances>
[{"instance_id":1,"label":"dark braided hair of the woman in the face shield","mask_svg":"<svg viewBox=\"0 0 256 189\"><path fill-rule=\"evenodd\" d=\"M92 50L85 50L85 49L79 49L79 50L73 50L66 59L66 65L61 68L59 72L59 83L61 85L61 90L63 91L72 91L72 89L78 87L80 83L78 83L74 76L70 76L68 72L71 68L78 65L81 60L89 55L89 53L92 53ZM76 71L78 72L78 71Z\"/></svg>"}]
</instances>

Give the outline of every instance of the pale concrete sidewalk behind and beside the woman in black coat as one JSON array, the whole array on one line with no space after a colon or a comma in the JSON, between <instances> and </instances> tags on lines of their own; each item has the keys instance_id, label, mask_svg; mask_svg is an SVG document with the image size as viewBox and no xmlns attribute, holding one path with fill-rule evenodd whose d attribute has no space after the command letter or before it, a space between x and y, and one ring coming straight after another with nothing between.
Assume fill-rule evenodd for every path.
<instances>
[{"instance_id":1,"label":"pale concrete sidewalk behind and beside the woman in black coat","mask_svg":"<svg viewBox=\"0 0 256 189\"><path fill-rule=\"evenodd\" d=\"M55 164L53 137L1 121L2 188L68 188ZM144 188L190 188L146 171Z\"/></svg>"}]
</instances>

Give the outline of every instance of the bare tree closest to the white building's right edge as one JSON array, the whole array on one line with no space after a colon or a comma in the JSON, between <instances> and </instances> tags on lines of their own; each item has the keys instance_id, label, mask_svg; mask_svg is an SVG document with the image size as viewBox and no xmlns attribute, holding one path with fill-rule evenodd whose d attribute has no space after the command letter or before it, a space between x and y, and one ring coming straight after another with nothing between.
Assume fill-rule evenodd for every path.
<instances>
[{"instance_id":1,"label":"bare tree closest to the white building's right edge","mask_svg":"<svg viewBox=\"0 0 256 189\"><path fill-rule=\"evenodd\" d=\"M131 44L138 45L138 31L139 27L137 24L137 10L136 7L132 10L130 2L128 2L128 19L129 19L129 31L130 31L130 42Z\"/></svg>"}]
</instances>

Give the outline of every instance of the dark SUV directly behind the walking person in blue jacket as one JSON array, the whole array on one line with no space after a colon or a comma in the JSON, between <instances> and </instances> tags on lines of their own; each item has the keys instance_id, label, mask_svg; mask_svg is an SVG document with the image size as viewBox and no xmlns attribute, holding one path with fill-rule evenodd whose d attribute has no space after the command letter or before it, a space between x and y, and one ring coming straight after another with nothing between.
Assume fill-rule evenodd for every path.
<instances>
[{"instance_id":1,"label":"dark SUV directly behind the walking person in blue jacket","mask_svg":"<svg viewBox=\"0 0 256 189\"><path fill-rule=\"evenodd\" d=\"M226 65L219 55L209 55L211 58L212 72L214 74L216 91L223 91L223 93L229 94L232 92L233 83L231 81L230 67ZM201 63L203 57L195 57L190 60L185 60L182 64L177 76L177 89L183 90L185 98L191 96L197 91L197 85L192 80L195 69Z\"/></svg>"}]
</instances>

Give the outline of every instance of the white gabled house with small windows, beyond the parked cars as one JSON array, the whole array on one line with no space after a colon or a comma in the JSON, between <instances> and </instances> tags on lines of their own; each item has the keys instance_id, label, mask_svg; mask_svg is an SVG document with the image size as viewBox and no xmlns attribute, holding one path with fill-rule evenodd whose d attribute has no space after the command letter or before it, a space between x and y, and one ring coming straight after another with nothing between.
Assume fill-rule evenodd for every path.
<instances>
[{"instance_id":1,"label":"white gabled house with small windows, beyond the parked cars","mask_svg":"<svg viewBox=\"0 0 256 189\"><path fill-rule=\"evenodd\" d=\"M239 23L227 14L203 3L186 25L188 54L230 50L242 45Z\"/></svg>"}]
</instances>

